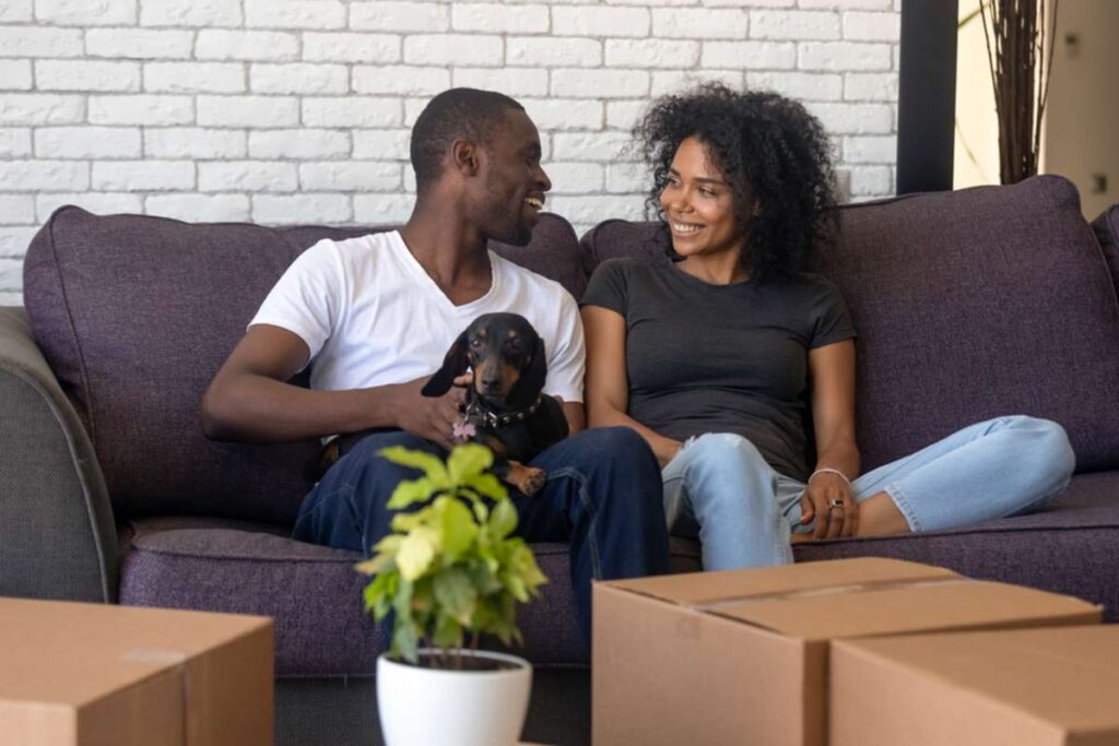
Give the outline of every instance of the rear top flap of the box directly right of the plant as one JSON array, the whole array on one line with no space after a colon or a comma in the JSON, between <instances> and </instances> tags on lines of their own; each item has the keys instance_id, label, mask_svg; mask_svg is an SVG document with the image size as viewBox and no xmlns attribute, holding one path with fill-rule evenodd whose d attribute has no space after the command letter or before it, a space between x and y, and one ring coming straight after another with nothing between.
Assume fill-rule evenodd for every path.
<instances>
[{"instance_id":1,"label":"rear top flap of the box directly right of the plant","mask_svg":"<svg viewBox=\"0 0 1119 746\"><path fill-rule=\"evenodd\" d=\"M606 585L684 606L761 598L863 584L959 578L932 565L882 557L797 563L720 573L688 573L609 580Z\"/></svg>"}]
</instances>

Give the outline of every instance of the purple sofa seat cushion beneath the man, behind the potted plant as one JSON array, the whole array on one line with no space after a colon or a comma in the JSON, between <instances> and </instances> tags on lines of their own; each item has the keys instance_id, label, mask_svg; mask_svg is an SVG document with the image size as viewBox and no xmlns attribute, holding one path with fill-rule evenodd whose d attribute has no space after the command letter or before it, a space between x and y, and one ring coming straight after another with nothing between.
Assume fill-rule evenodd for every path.
<instances>
[{"instance_id":1,"label":"purple sofa seat cushion beneath the man, behind the potted plant","mask_svg":"<svg viewBox=\"0 0 1119 746\"><path fill-rule=\"evenodd\" d=\"M361 608L357 553L295 541L267 525L205 518L133 521L120 603L275 618L279 676L370 674L383 641ZM567 546L533 545L551 583L520 607L525 646L539 665L583 664ZM517 651L515 651L517 652Z\"/></svg>"}]
</instances>

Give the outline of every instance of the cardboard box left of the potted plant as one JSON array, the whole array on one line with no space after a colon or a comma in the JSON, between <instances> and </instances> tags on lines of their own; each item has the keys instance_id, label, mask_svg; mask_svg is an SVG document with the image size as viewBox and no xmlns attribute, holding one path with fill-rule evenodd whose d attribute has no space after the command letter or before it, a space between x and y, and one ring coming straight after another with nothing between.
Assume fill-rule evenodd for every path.
<instances>
[{"instance_id":1,"label":"cardboard box left of the potted plant","mask_svg":"<svg viewBox=\"0 0 1119 746\"><path fill-rule=\"evenodd\" d=\"M0 744L273 743L270 618L0 598Z\"/></svg>"}]
</instances>

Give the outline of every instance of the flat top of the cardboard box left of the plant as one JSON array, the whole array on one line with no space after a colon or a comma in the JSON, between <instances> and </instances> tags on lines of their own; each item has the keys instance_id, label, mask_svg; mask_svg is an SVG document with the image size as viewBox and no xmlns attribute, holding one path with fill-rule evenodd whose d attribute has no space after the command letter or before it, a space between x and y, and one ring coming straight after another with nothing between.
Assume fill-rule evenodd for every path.
<instances>
[{"instance_id":1,"label":"flat top of the cardboard box left of the plant","mask_svg":"<svg viewBox=\"0 0 1119 746\"><path fill-rule=\"evenodd\" d=\"M79 707L271 623L261 616L0 598L0 699Z\"/></svg>"}]
</instances>

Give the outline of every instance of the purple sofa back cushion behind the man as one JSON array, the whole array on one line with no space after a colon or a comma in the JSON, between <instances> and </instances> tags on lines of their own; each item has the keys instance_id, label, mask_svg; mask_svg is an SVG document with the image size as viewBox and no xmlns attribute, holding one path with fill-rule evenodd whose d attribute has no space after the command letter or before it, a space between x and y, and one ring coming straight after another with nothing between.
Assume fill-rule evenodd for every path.
<instances>
[{"instance_id":1,"label":"purple sofa back cushion behind the man","mask_svg":"<svg viewBox=\"0 0 1119 746\"><path fill-rule=\"evenodd\" d=\"M266 228L56 211L25 259L36 340L88 429L117 517L289 523L314 440L215 443L201 395L288 265L321 238L378 228ZM385 229L385 228L379 228ZM526 247L493 248L582 293L571 226L545 216Z\"/></svg>"}]
</instances>

